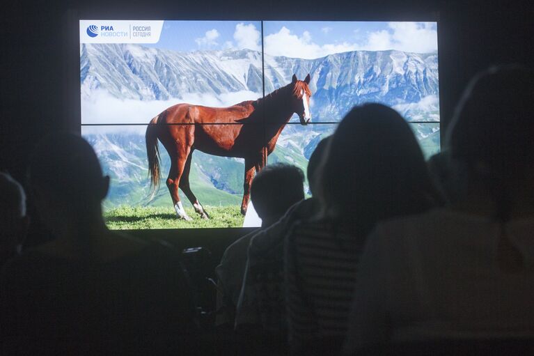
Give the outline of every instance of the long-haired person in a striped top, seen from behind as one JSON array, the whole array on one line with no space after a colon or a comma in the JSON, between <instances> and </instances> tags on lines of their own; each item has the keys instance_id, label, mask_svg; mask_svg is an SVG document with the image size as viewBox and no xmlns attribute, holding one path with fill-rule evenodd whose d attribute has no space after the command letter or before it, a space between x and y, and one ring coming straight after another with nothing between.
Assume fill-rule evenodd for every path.
<instances>
[{"instance_id":1,"label":"long-haired person in a striped top, seen from behind","mask_svg":"<svg viewBox=\"0 0 534 356\"><path fill-rule=\"evenodd\" d=\"M384 105L354 107L339 123L316 187L321 212L285 240L289 342L296 354L336 354L347 330L359 256L377 222L438 199L404 118Z\"/></svg>"}]
</instances>

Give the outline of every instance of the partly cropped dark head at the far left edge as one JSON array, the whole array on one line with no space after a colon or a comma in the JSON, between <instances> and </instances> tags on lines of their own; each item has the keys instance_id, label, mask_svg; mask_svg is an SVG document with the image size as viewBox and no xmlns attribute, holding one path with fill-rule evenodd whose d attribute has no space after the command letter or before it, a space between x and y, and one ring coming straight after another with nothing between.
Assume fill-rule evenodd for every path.
<instances>
[{"instance_id":1,"label":"partly cropped dark head at the far left edge","mask_svg":"<svg viewBox=\"0 0 534 356\"><path fill-rule=\"evenodd\" d=\"M28 232L26 194L8 173L0 172L0 268L20 254Z\"/></svg>"}]
</instances>

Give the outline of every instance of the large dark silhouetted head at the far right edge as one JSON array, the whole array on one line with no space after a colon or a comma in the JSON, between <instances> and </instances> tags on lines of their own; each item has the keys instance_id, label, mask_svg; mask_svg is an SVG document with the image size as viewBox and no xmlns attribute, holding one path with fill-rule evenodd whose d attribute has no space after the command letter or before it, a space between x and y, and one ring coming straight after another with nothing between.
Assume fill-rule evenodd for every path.
<instances>
[{"instance_id":1,"label":"large dark silhouetted head at the far right edge","mask_svg":"<svg viewBox=\"0 0 534 356\"><path fill-rule=\"evenodd\" d=\"M465 165L471 187L492 191L534 178L534 70L505 65L476 75L446 142L453 159Z\"/></svg>"}]
</instances>

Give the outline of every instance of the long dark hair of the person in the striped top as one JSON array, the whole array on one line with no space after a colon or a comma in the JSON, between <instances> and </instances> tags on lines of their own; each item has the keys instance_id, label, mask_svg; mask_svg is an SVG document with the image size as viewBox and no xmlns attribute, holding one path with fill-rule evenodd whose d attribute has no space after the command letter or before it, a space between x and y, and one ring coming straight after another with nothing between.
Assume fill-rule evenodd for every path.
<instances>
[{"instance_id":1,"label":"long dark hair of the person in the striped top","mask_svg":"<svg viewBox=\"0 0 534 356\"><path fill-rule=\"evenodd\" d=\"M380 104L354 107L339 123L320 168L321 218L365 236L382 219L423 212L439 201L405 119Z\"/></svg>"}]
</instances>

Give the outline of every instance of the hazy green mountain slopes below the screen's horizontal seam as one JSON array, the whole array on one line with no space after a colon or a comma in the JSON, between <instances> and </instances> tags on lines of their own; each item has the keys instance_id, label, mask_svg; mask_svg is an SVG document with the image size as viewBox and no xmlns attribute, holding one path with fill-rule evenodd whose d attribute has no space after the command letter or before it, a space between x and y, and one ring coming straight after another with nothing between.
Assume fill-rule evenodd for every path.
<instances>
[{"instance_id":1,"label":"hazy green mountain slopes below the screen's horizontal seam","mask_svg":"<svg viewBox=\"0 0 534 356\"><path fill-rule=\"evenodd\" d=\"M308 167L306 157L309 157L315 148L311 146L311 141L318 141L317 137L331 134L336 126L320 125L317 127L317 130L313 132L309 132L308 127L300 125L286 127L278 139L274 152L269 155L267 163L295 164L306 176ZM418 137L426 158L439 152L439 123L410 123L410 127ZM104 172L111 177L111 187L104 201L104 211L111 213L121 206L173 209L171 196L165 184L171 162L161 145L159 149L162 153L162 180L159 189L150 199L148 162L142 135L112 133L87 134L85 137L95 147ZM239 210L243 194L243 180L244 162L242 159L207 155L198 150L194 152L189 183L192 192L203 206L228 206ZM305 192L309 194L307 178L304 184ZM179 194L184 207L191 208L191 203L181 190Z\"/></svg>"}]
</instances>

